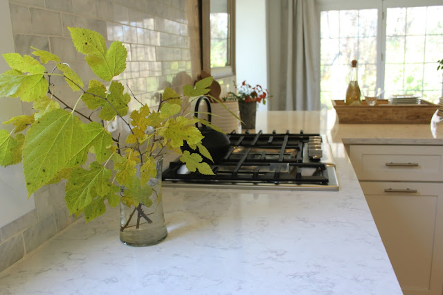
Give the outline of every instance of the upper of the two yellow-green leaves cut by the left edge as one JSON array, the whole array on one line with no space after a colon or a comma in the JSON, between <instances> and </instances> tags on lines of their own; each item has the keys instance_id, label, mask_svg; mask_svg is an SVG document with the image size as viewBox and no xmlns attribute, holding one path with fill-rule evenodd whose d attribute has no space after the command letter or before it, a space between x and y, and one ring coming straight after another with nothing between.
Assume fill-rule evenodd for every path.
<instances>
[{"instance_id":1,"label":"upper of the two yellow-green leaves cut by the left edge","mask_svg":"<svg viewBox=\"0 0 443 295\"><path fill-rule=\"evenodd\" d=\"M0 75L0 96L33 101L48 92L48 81L43 74L25 75L21 71L10 70Z\"/></svg>"}]
</instances>

